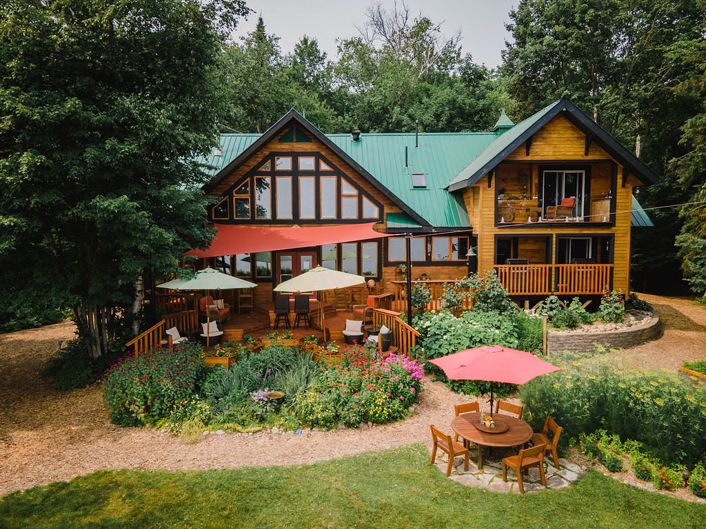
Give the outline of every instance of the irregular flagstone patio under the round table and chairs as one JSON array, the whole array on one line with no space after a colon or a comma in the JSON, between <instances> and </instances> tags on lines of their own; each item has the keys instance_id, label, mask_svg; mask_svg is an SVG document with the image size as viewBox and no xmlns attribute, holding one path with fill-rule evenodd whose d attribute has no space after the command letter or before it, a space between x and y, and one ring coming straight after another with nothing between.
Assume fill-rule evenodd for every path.
<instances>
[{"instance_id":1,"label":"irregular flagstone patio under the round table and chairs","mask_svg":"<svg viewBox=\"0 0 706 529\"><path fill-rule=\"evenodd\" d=\"M490 457L485 454L486 452L484 452L483 470L479 470L476 466L477 450L475 449L471 449L471 464L468 468L468 472L463 469L463 458L455 458L450 479L462 485L467 485L468 487L487 489L493 492L520 492L517 487L517 476L514 470L508 470L508 480L503 481L502 458L510 456L513 453L511 451L503 451L500 454L493 454ZM441 472L446 473L447 463L448 456L439 451L436 456L436 466ZM566 461L566 459L560 458L559 468L556 468L554 466L554 460L551 457L544 458L544 475L546 477L546 487L549 489L568 487L585 472L585 467L570 463L570 461ZM525 485L525 492L546 490L545 487L542 486L541 478L539 478L538 468L530 468L530 474L525 475L522 482Z\"/></svg>"}]
</instances>

